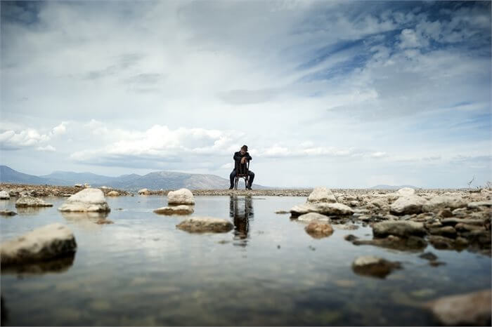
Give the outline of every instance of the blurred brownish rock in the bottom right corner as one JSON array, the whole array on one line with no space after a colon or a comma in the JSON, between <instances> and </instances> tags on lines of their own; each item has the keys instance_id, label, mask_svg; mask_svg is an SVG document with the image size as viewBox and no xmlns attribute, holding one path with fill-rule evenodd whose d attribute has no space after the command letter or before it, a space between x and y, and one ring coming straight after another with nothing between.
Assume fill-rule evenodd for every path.
<instances>
[{"instance_id":1,"label":"blurred brownish rock in the bottom right corner","mask_svg":"<svg viewBox=\"0 0 492 327\"><path fill-rule=\"evenodd\" d=\"M446 296L426 305L446 326L491 326L491 290Z\"/></svg>"}]
</instances>

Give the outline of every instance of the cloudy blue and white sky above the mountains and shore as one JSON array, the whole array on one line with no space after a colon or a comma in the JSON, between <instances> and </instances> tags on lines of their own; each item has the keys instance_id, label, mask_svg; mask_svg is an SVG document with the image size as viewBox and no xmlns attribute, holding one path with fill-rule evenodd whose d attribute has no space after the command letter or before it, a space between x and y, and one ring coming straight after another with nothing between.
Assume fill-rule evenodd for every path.
<instances>
[{"instance_id":1,"label":"cloudy blue and white sky above the mountains and shore","mask_svg":"<svg viewBox=\"0 0 492 327\"><path fill-rule=\"evenodd\" d=\"M1 1L0 163L492 182L490 1Z\"/></svg>"}]
</instances>

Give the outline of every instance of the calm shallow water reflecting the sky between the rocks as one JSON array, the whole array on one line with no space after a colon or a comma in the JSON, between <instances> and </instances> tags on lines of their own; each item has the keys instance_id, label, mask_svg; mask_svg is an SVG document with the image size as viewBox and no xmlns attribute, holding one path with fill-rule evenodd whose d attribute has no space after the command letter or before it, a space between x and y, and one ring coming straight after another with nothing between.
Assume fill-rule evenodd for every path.
<instances>
[{"instance_id":1,"label":"calm shallow water reflecting the sky between the rocks","mask_svg":"<svg viewBox=\"0 0 492 327\"><path fill-rule=\"evenodd\" d=\"M75 258L27 272L1 274L1 319L15 326L151 325L434 325L420 305L442 295L491 288L491 258L468 251L439 251L446 265L431 267L420 253L354 246L340 230L323 239L305 224L278 215L305 197L195 196L195 213L228 218L224 234L176 229L187 216L153 213L163 196L107 198L112 225L96 217L52 208L0 209L1 241L52 222L72 229ZM122 208L122 210L118 210ZM403 263L386 279L359 276L351 263L377 255Z\"/></svg>"}]
</instances>

